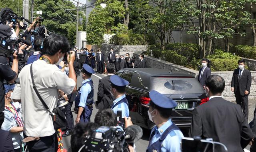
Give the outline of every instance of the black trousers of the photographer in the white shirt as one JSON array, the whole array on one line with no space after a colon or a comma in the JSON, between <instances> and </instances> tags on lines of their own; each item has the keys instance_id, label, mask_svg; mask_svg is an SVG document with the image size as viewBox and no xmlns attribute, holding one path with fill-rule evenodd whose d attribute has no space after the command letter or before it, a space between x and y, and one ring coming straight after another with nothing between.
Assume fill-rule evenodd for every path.
<instances>
[{"instance_id":1,"label":"black trousers of the photographer in the white shirt","mask_svg":"<svg viewBox=\"0 0 256 152\"><path fill-rule=\"evenodd\" d=\"M24 138L27 136L24 135ZM27 142L29 152L56 152L58 150L57 134L40 137L37 141Z\"/></svg>"}]
</instances>

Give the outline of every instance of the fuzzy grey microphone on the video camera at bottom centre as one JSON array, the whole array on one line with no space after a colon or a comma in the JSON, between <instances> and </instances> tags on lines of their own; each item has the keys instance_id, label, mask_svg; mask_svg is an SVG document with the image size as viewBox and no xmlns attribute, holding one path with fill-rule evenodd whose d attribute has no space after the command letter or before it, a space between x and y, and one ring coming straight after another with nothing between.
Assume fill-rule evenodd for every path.
<instances>
[{"instance_id":1,"label":"fuzzy grey microphone on the video camera at bottom centre","mask_svg":"<svg viewBox=\"0 0 256 152\"><path fill-rule=\"evenodd\" d=\"M124 139L128 144L137 142L143 135L142 128L138 125L131 125L126 128Z\"/></svg>"}]
</instances>

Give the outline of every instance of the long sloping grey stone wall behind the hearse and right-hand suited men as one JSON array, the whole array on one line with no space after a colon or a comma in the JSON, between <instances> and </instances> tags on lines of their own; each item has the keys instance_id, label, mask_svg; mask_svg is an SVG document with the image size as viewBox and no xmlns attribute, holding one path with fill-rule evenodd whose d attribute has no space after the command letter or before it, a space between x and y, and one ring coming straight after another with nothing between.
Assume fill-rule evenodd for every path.
<instances>
[{"instance_id":1,"label":"long sloping grey stone wall behind the hearse and right-hand suited men","mask_svg":"<svg viewBox=\"0 0 256 152\"><path fill-rule=\"evenodd\" d=\"M138 59L139 54L134 53L134 55L136 56L136 59ZM172 71L178 71L181 73L191 74L194 77L197 77L199 74L199 71L197 70L189 69L187 67L166 62L161 59L156 59L148 55L145 55L144 59L146 61L146 67L148 68L168 69ZM252 73L252 85L250 89L251 93L249 95L249 99L254 99L256 97L256 71L251 71L251 73ZM223 91L222 95L225 99L229 101L235 101L236 99L235 99L234 93L232 93L230 90L233 71L216 71L216 72L212 72L212 74L217 74L224 78L225 90Z\"/></svg>"}]
</instances>

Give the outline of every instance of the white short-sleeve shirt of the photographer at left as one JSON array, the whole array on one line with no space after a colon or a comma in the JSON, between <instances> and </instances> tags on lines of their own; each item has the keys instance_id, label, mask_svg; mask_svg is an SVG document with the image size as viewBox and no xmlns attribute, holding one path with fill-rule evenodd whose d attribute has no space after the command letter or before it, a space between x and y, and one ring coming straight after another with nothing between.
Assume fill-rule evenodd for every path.
<instances>
[{"instance_id":1,"label":"white short-sleeve shirt of the photographer at left","mask_svg":"<svg viewBox=\"0 0 256 152\"><path fill-rule=\"evenodd\" d=\"M20 83L16 84L12 99L21 100L26 136L50 136L55 132L52 118L33 89L30 66L31 64L26 65L20 71ZM58 89L70 94L76 86L75 81L56 65L40 59L33 63L33 74L36 89L50 111L56 107Z\"/></svg>"}]
</instances>

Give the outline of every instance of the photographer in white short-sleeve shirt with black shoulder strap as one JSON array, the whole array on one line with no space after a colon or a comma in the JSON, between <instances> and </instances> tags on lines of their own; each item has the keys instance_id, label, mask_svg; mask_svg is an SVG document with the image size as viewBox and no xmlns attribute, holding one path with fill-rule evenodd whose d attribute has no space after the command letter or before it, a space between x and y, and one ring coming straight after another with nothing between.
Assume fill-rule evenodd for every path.
<instances>
[{"instance_id":1,"label":"photographer in white short-sleeve shirt with black shoulder strap","mask_svg":"<svg viewBox=\"0 0 256 152\"><path fill-rule=\"evenodd\" d=\"M27 140L30 152L54 152L56 130L52 116L40 101L32 85L38 90L42 100L52 111L58 100L58 89L70 94L76 91L76 74L74 72L74 51L68 54L69 43L64 36L50 35L44 39L42 56L34 63L25 66L18 76L20 82L14 88L13 101L21 101L22 117L24 122L24 140ZM68 76L63 73L58 65L67 55L69 62ZM70 56L71 55L71 56ZM55 65L54 65L55 64ZM32 69L30 69L32 66ZM31 72L33 73L31 77ZM29 137L26 139L26 137Z\"/></svg>"}]
</instances>

